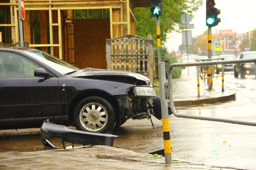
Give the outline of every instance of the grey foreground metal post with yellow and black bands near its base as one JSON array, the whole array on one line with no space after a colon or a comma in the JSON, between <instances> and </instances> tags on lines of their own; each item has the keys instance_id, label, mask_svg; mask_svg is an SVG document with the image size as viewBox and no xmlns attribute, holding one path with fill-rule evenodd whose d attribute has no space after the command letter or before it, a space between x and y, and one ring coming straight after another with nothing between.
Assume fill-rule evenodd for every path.
<instances>
[{"instance_id":1,"label":"grey foreground metal post with yellow and black bands near its base","mask_svg":"<svg viewBox=\"0 0 256 170\"><path fill-rule=\"evenodd\" d=\"M168 117L168 103L165 93L165 63L159 62L159 87L160 87L160 98L161 98L161 111L162 111L162 126L163 126L163 135L164 135L164 155L165 155L165 164L172 163L172 149L171 149L171 140L170 140L170 125Z\"/></svg>"}]
</instances>

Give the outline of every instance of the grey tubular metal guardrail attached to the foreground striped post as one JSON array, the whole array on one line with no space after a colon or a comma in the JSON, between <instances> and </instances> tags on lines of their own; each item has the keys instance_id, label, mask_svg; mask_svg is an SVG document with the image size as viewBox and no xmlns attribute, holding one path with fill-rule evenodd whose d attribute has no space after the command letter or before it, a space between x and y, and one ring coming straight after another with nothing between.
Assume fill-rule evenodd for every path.
<instances>
[{"instance_id":1,"label":"grey tubular metal guardrail attached to the foreground striped post","mask_svg":"<svg viewBox=\"0 0 256 170\"><path fill-rule=\"evenodd\" d=\"M172 69L173 69L173 67L208 66L208 65L217 65L217 64L236 64L236 63L256 63L256 58L224 60L224 61L203 61L203 62L196 62L196 63L174 63L174 64L170 65L169 66L169 72L168 72L168 87L169 88L168 88L168 92L165 91L165 96L161 95L161 105L162 105L162 102L166 103L166 101L167 101L166 96L169 96L169 98L170 98L170 107L172 109L173 115L176 116L176 117L256 126L256 122L248 122L248 121L232 120L232 119L223 119L223 118L217 118L217 117L204 117L204 116L196 116L196 115L177 114L177 111L175 110L175 107L174 107L173 96L172 96ZM164 64L164 62L160 62L159 65L160 64ZM165 83L164 82L164 81L166 81L165 77L164 77L164 79L162 79L162 78L160 79L160 76L162 76L162 75L159 75L159 80L162 81L160 83ZM160 88L163 88L163 87L160 87ZM163 90L164 90L164 88L163 88ZM169 95L167 95L167 93L169 93ZM168 112L167 112L167 114L168 114Z\"/></svg>"}]
</instances>

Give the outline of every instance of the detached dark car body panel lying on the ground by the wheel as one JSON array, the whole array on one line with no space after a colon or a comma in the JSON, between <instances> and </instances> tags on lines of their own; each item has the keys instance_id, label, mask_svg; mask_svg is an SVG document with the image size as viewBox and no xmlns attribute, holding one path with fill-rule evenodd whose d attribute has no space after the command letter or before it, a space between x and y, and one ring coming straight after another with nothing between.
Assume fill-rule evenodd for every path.
<instances>
[{"instance_id":1,"label":"detached dark car body panel lying on the ground by the wheel","mask_svg":"<svg viewBox=\"0 0 256 170\"><path fill-rule=\"evenodd\" d=\"M81 145L106 145L113 146L115 135L90 133L80 130L71 130L63 125L57 125L44 121L41 126L41 138L45 149L57 149L48 140L58 136L62 140L63 148L66 149L65 142Z\"/></svg>"}]
</instances>

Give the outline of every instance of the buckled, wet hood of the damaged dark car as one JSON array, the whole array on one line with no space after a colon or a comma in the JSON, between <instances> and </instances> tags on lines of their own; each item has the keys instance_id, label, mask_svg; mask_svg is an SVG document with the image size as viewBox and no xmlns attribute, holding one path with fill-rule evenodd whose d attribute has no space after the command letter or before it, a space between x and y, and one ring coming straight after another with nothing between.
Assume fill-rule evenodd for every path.
<instances>
[{"instance_id":1,"label":"buckled, wet hood of the damaged dark car","mask_svg":"<svg viewBox=\"0 0 256 170\"><path fill-rule=\"evenodd\" d=\"M128 71L118 71L118 70L106 70L106 69L94 69L85 68L80 71L71 74L72 77L99 77L99 76L117 76L117 77L134 77L135 79L142 80L145 82L150 82L149 78L144 75L128 72Z\"/></svg>"}]
</instances>

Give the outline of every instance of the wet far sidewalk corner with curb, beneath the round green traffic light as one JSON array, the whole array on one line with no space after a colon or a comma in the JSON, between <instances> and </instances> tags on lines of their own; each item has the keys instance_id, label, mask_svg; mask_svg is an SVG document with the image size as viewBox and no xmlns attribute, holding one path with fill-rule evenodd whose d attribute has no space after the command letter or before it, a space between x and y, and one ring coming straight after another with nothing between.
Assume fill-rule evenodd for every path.
<instances>
[{"instance_id":1,"label":"wet far sidewalk corner with curb, beneath the round green traffic light","mask_svg":"<svg viewBox=\"0 0 256 170\"><path fill-rule=\"evenodd\" d=\"M200 96L198 97L197 76L193 69L195 68L190 68L189 74L188 70L184 69L179 79L172 79L173 102L175 107L213 104L236 99L235 92L225 90L225 88L224 92L222 92L221 77L213 79L211 90L209 90L207 79L205 81L200 79ZM156 91L159 90L157 89L158 83L154 84Z\"/></svg>"}]
</instances>

